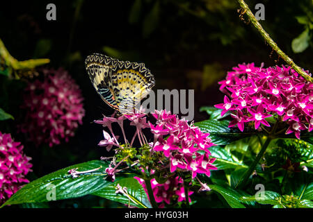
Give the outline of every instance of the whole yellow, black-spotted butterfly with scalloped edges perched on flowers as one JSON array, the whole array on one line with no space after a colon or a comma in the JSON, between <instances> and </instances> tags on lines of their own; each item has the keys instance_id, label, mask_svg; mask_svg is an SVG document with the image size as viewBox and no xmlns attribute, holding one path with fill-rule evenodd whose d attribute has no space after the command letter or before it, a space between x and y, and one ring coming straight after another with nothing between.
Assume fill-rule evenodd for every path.
<instances>
[{"instance_id":1,"label":"whole yellow, black-spotted butterfly with scalloped edges perched on flowers","mask_svg":"<svg viewBox=\"0 0 313 222\"><path fill-rule=\"evenodd\" d=\"M102 100L122 114L133 112L155 84L144 63L124 62L93 53L86 58L85 66Z\"/></svg>"}]
</instances>

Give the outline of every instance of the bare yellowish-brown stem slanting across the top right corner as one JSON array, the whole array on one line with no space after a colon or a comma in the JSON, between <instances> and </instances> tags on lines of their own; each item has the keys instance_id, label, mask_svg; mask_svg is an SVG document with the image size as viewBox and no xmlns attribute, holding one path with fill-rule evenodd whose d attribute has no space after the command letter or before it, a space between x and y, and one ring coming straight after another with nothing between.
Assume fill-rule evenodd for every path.
<instances>
[{"instance_id":1,"label":"bare yellowish-brown stem slanting across the top right corner","mask_svg":"<svg viewBox=\"0 0 313 222\"><path fill-rule=\"evenodd\" d=\"M276 53L278 53L278 56L280 56L285 62L287 62L287 64L289 66L291 66L291 68L294 69L298 74L300 74L300 76L305 78L305 80L310 81L311 83L313 83L313 78L310 77L309 75L307 75L305 73L305 71L303 71L303 69L301 67L296 65L294 63L294 61L291 60L291 58L289 58L289 56L287 56L278 47L278 45L271 39L271 37L268 35L268 33L266 33L266 31L264 31L264 29L262 28L261 24L259 24L259 22L255 18L255 15L253 15L253 13L251 12L251 10L250 10L249 6L246 4L246 2L244 0L237 0L237 1L239 2L241 8L243 8L243 12L242 12L241 15L243 15L245 13L248 15L248 17L249 17L250 21L252 22L253 26L255 26L255 28L257 28L257 31L259 31L259 33L262 35L264 40L271 46L271 48L273 50L275 50Z\"/></svg>"}]
</instances>

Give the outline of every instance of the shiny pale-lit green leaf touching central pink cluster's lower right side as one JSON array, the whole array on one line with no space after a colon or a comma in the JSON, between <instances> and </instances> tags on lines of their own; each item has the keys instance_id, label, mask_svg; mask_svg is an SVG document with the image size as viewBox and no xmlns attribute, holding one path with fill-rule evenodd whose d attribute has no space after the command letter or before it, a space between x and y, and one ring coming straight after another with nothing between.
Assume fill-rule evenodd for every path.
<instances>
[{"instance_id":1,"label":"shiny pale-lit green leaf touching central pink cluster's lower right side","mask_svg":"<svg viewBox=\"0 0 313 222\"><path fill-rule=\"evenodd\" d=\"M211 152L212 157L216 158L214 166L217 167L218 170L235 169L237 167L248 168L245 164L233 160L232 155L220 146L211 146L209 151Z\"/></svg>"}]
</instances>

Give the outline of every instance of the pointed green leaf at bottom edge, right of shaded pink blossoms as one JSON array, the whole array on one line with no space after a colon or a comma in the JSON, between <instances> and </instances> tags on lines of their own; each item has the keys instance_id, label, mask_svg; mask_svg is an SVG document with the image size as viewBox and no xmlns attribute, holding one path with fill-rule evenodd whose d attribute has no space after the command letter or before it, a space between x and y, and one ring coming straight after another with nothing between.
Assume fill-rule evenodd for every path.
<instances>
[{"instance_id":1,"label":"pointed green leaf at bottom edge, right of shaded pink blossoms","mask_svg":"<svg viewBox=\"0 0 313 222\"><path fill-rule=\"evenodd\" d=\"M218 194L222 195L223 198L227 201L227 203L232 208L246 208L242 203L240 203L239 198L241 194L239 194L236 190L230 187L222 187L220 185L209 185L209 187L218 192Z\"/></svg>"}]
</instances>

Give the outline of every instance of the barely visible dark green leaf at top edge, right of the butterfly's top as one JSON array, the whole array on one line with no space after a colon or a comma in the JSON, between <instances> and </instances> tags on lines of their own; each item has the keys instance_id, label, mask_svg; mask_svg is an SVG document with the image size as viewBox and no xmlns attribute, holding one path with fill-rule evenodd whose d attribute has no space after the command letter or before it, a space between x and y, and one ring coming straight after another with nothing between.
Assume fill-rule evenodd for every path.
<instances>
[{"instance_id":1,"label":"barely visible dark green leaf at top edge, right of the butterfly's top","mask_svg":"<svg viewBox=\"0 0 313 222\"><path fill-rule=\"evenodd\" d=\"M157 28L157 25L159 23L159 13L160 13L160 3L159 1L156 1L154 3L154 6L152 7L152 10L143 20L144 38L148 37L151 33L153 33L155 28Z\"/></svg>"}]
</instances>

